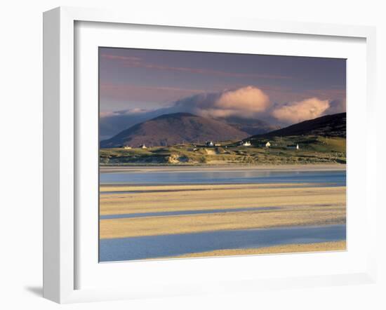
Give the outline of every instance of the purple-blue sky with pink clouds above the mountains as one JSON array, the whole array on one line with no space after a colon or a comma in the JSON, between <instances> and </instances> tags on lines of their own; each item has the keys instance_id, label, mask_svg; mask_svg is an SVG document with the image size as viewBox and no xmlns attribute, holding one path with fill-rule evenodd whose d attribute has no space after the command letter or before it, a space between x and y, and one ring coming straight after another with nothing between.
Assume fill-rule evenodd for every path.
<instances>
[{"instance_id":1,"label":"purple-blue sky with pink clouds above the mountains","mask_svg":"<svg viewBox=\"0 0 386 310\"><path fill-rule=\"evenodd\" d=\"M99 48L100 135L166 113L287 126L345 112L346 60Z\"/></svg>"}]
</instances>

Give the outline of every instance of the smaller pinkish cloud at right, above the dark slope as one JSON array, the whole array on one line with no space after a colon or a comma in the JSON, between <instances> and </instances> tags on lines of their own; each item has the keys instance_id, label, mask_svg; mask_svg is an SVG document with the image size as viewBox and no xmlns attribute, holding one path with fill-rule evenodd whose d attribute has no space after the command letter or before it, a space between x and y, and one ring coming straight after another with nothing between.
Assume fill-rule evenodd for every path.
<instances>
[{"instance_id":1,"label":"smaller pinkish cloud at right, above the dark slope","mask_svg":"<svg viewBox=\"0 0 386 310\"><path fill-rule=\"evenodd\" d=\"M300 121L315 119L322 116L329 107L329 100L320 100L317 97L312 97L277 107L272 111L272 115L279 121L298 123Z\"/></svg>"}]
</instances>

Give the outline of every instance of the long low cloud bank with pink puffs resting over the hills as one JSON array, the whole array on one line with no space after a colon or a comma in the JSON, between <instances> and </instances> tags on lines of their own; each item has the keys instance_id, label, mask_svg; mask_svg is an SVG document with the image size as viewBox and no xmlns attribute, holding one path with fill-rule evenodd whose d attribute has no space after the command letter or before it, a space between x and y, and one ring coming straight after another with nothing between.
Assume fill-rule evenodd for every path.
<instances>
[{"instance_id":1,"label":"long low cloud bank with pink puffs resting over the hills","mask_svg":"<svg viewBox=\"0 0 386 310\"><path fill-rule=\"evenodd\" d=\"M345 100L321 100L310 97L305 100L272 104L269 96L260 88L246 86L218 93L199 93L173 102L160 109L126 109L100 113L100 133L111 137L130 126L162 114L189 112L204 117L263 119L281 126L315 119L326 114L345 112Z\"/></svg>"}]
</instances>

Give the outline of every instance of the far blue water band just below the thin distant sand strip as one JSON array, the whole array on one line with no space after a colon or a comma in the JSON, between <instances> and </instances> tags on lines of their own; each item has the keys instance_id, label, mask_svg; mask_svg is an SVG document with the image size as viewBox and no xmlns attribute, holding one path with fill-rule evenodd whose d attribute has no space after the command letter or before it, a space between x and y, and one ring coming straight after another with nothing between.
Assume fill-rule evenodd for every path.
<instances>
[{"instance_id":1,"label":"far blue water band just below the thin distant sand strip","mask_svg":"<svg viewBox=\"0 0 386 310\"><path fill-rule=\"evenodd\" d=\"M154 184L251 184L251 183L320 183L328 186L345 186L346 172L336 171L267 171L267 170L219 170L219 171L168 171L100 173L100 184L126 183Z\"/></svg>"}]
</instances>

